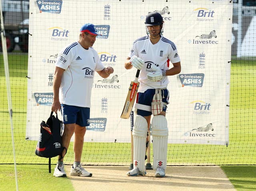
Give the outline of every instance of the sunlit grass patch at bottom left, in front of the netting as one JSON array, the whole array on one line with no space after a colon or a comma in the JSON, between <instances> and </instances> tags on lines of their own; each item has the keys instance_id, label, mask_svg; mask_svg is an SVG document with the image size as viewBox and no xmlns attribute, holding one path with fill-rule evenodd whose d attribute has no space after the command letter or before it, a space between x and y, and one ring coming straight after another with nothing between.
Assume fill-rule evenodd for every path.
<instances>
[{"instance_id":1,"label":"sunlit grass patch at bottom left, in front of the netting","mask_svg":"<svg viewBox=\"0 0 256 191\"><path fill-rule=\"evenodd\" d=\"M19 191L74 191L68 178L53 177L47 165L17 165ZM14 165L0 165L0 190L16 190Z\"/></svg>"}]
</instances>

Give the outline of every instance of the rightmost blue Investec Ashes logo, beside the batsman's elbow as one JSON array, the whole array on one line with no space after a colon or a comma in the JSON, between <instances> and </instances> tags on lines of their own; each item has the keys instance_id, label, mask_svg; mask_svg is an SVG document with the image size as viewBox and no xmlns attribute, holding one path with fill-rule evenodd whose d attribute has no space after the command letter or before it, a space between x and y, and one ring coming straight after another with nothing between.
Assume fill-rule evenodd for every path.
<instances>
[{"instance_id":1,"label":"rightmost blue Investec Ashes logo, beside the batsman's elbow","mask_svg":"<svg viewBox=\"0 0 256 191\"><path fill-rule=\"evenodd\" d=\"M196 86L202 87L204 83L204 74L179 74L180 82L182 87L184 86Z\"/></svg>"}]
</instances>

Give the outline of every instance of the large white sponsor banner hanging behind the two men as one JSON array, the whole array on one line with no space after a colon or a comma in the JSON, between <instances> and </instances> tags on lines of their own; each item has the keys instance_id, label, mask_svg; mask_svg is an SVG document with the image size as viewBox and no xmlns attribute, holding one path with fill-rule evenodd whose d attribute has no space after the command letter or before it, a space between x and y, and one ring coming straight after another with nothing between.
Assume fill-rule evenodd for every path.
<instances>
[{"instance_id":1,"label":"large white sponsor banner hanging behind the two men","mask_svg":"<svg viewBox=\"0 0 256 191\"><path fill-rule=\"evenodd\" d=\"M86 3L89 6L85 11L81 6L84 2L79 0L30 1L27 140L38 140L37 126L48 118L60 50L77 41L81 26L90 22L100 34L93 44L98 52L94 62L100 59L105 67L114 68L114 73L102 78L93 67L81 68L82 78L94 78L90 126L84 140L129 143L131 120L121 119L120 115L136 69L126 70L124 62L129 51L134 51L133 42L147 35L148 13L158 12L164 20L162 36L176 44L178 53L172 58L180 56L182 65L180 74L168 76L170 99L165 106L168 143L228 144L232 2L180 0L177 4L168 0L156 4L154 0L88 0ZM146 56L148 49L144 47L138 52ZM156 49L160 59L165 54L166 50ZM81 55L74 55L74 60L81 59ZM67 62L63 57L58 60ZM159 64L158 58L144 61L147 72L154 72L152 64ZM166 66L173 67L170 60L166 60Z\"/></svg>"}]
</instances>

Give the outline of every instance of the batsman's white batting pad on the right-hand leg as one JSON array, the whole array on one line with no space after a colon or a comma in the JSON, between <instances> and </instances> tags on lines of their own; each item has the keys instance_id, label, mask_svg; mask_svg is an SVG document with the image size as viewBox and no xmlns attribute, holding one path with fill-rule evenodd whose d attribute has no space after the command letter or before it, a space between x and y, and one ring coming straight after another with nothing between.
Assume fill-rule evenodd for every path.
<instances>
[{"instance_id":1,"label":"batsman's white batting pad on the right-hand leg","mask_svg":"<svg viewBox=\"0 0 256 191\"><path fill-rule=\"evenodd\" d=\"M162 167L166 170L168 127L164 115L155 115L152 119L153 169Z\"/></svg>"}]
</instances>

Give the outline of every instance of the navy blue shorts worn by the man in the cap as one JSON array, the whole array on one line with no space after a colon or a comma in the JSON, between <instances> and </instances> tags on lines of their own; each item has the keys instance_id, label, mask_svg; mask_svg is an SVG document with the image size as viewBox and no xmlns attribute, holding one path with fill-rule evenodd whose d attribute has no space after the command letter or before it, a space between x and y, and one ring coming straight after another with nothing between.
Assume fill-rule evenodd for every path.
<instances>
[{"instance_id":1,"label":"navy blue shorts worn by the man in the cap","mask_svg":"<svg viewBox=\"0 0 256 191\"><path fill-rule=\"evenodd\" d=\"M90 108L61 104L64 124L76 123L81 127L90 125Z\"/></svg>"}]
</instances>

